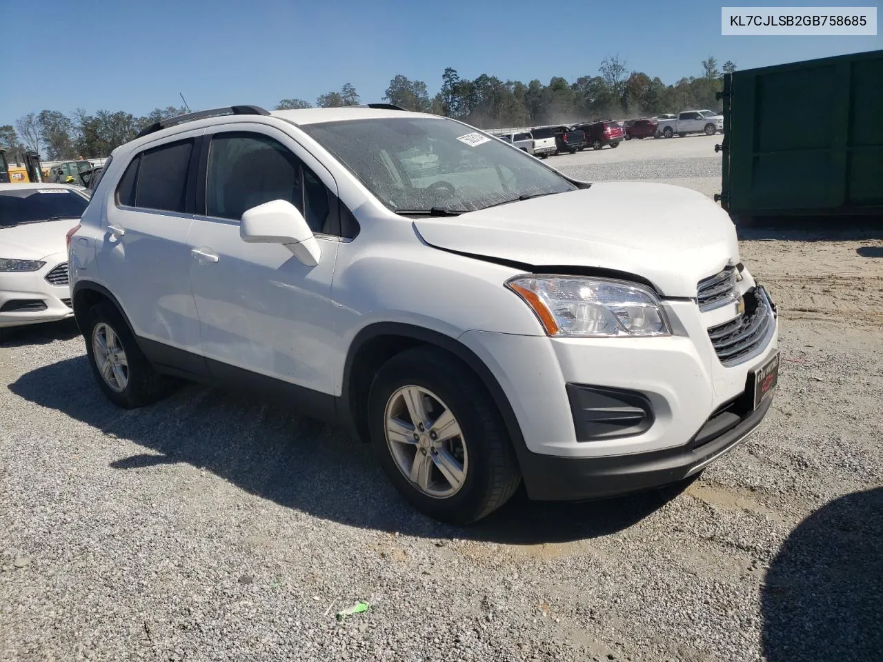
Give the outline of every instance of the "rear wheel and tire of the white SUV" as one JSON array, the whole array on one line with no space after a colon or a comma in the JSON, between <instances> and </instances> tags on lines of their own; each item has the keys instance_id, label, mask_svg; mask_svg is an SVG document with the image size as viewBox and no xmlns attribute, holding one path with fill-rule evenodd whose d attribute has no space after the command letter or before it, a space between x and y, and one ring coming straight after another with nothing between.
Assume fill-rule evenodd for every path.
<instances>
[{"instance_id":1,"label":"rear wheel and tire of the white SUV","mask_svg":"<svg viewBox=\"0 0 883 662\"><path fill-rule=\"evenodd\" d=\"M89 309L83 337L98 387L118 407L143 407L169 392L170 381L150 365L123 316L109 301Z\"/></svg>"}]
</instances>

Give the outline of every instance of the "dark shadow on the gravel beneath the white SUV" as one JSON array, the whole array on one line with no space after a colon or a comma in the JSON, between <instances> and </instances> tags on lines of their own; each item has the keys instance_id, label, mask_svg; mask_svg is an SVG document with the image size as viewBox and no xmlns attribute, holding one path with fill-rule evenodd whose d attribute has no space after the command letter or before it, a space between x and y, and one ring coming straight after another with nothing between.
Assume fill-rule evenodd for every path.
<instances>
[{"instance_id":1,"label":"dark shadow on the gravel beneath the white SUV","mask_svg":"<svg viewBox=\"0 0 883 662\"><path fill-rule=\"evenodd\" d=\"M369 445L246 395L185 385L150 407L120 410L95 385L85 356L27 372L9 388L30 402L145 447L143 453L112 462L115 469L190 463L286 508L426 538L516 545L593 538L628 528L686 487L682 483L581 504L535 503L521 491L479 523L454 527L408 506L382 474Z\"/></svg>"}]
</instances>

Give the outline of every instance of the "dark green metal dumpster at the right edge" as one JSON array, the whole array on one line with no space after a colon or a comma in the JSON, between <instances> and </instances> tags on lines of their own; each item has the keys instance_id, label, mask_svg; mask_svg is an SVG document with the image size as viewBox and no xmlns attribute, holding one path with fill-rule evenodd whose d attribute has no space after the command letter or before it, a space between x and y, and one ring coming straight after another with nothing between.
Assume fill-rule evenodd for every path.
<instances>
[{"instance_id":1,"label":"dark green metal dumpster at the right edge","mask_svg":"<svg viewBox=\"0 0 883 662\"><path fill-rule=\"evenodd\" d=\"M719 97L736 222L883 215L883 50L735 71Z\"/></svg>"}]
</instances>

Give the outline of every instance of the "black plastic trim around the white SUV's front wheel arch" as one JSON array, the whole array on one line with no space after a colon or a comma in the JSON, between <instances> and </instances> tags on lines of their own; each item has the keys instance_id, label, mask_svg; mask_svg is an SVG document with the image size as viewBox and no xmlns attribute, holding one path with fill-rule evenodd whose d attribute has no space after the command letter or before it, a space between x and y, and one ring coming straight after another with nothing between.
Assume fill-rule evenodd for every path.
<instances>
[{"instance_id":1,"label":"black plastic trim around the white SUV's front wheel arch","mask_svg":"<svg viewBox=\"0 0 883 662\"><path fill-rule=\"evenodd\" d=\"M524 436L515 411L490 368L457 338L403 322L375 322L361 329L350 345L343 365L338 415L361 440L368 440L366 396L377 369L389 358L415 347L435 347L466 365L487 389L500 412L519 463L526 453Z\"/></svg>"}]
</instances>

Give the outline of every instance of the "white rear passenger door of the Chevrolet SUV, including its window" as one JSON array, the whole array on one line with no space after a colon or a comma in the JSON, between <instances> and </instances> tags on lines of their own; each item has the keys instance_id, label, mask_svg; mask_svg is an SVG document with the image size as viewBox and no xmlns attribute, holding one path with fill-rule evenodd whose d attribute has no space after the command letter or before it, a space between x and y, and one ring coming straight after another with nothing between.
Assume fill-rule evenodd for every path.
<instances>
[{"instance_id":1,"label":"white rear passenger door of the Chevrolet SUV, including its window","mask_svg":"<svg viewBox=\"0 0 883 662\"><path fill-rule=\"evenodd\" d=\"M136 335L199 353L190 288L192 170L201 130L135 154L107 207L95 260ZM200 371L200 361L193 372ZM182 365L181 367L185 367Z\"/></svg>"}]
</instances>

